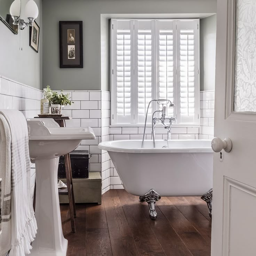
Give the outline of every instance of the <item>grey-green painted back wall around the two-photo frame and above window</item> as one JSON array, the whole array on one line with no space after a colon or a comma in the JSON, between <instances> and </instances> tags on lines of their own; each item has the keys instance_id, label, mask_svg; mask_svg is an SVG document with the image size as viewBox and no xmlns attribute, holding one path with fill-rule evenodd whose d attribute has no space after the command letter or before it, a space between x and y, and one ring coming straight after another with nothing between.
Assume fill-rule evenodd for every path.
<instances>
[{"instance_id":1,"label":"grey-green painted back wall around the two-photo frame and above window","mask_svg":"<svg viewBox=\"0 0 256 256\"><path fill-rule=\"evenodd\" d=\"M216 6L216 0L43 0L43 87L49 84L58 90L109 90L109 44L106 32L101 31L101 25L107 27L101 14L107 18L109 14L216 13ZM71 20L83 21L83 69L59 68L58 22ZM101 65L101 58L105 64Z\"/></svg>"}]
</instances>

